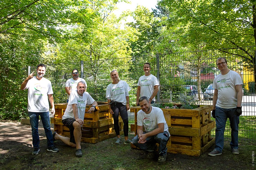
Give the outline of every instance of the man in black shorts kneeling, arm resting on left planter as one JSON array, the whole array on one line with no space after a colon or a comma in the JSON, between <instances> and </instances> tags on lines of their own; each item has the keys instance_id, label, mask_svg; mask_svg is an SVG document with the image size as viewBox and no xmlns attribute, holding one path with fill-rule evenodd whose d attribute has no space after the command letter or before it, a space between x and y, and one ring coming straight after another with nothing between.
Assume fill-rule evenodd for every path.
<instances>
[{"instance_id":1,"label":"man in black shorts kneeling, arm resting on left planter","mask_svg":"<svg viewBox=\"0 0 256 170\"><path fill-rule=\"evenodd\" d=\"M65 110L64 115L62 116L62 123L70 130L70 138L64 137L56 132L53 133L54 140L61 140L67 145L75 148L76 147L76 157L83 156L81 150L81 127L84 124L84 114L86 104L92 105L89 109L89 112L94 111L97 106L97 102L89 95L88 92L85 92L85 83L79 82L77 85L77 90L74 90L70 93L69 102Z\"/></svg>"}]
</instances>

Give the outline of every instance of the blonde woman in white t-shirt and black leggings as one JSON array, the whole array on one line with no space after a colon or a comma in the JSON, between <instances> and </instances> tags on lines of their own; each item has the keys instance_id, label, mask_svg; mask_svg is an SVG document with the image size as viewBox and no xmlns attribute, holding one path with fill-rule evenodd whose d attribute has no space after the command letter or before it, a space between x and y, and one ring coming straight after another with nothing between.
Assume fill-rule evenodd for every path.
<instances>
[{"instance_id":1,"label":"blonde woman in white t-shirt and black leggings","mask_svg":"<svg viewBox=\"0 0 256 170\"><path fill-rule=\"evenodd\" d=\"M115 133L118 137L115 144L121 143L120 130L119 130L119 113L124 122L124 144L131 144L128 139L128 112L129 106L129 91L131 88L125 82L119 79L118 72L113 70L110 73L110 83L106 89L106 98L109 103L109 112L114 118Z\"/></svg>"}]
</instances>

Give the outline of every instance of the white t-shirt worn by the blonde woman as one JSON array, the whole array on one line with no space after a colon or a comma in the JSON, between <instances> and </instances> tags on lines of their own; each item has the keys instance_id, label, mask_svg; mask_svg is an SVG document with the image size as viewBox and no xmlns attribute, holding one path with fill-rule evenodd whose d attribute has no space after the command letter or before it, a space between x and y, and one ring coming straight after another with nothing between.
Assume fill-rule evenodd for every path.
<instances>
[{"instance_id":1,"label":"white t-shirt worn by the blonde woman","mask_svg":"<svg viewBox=\"0 0 256 170\"><path fill-rule=\"evenodd\" d=\"M130 90L129 85L123 80L120 80L117 84L110 83L106 89L106 98L126 105L125 93L128 93Z\"/></svg>"}]
</instances>

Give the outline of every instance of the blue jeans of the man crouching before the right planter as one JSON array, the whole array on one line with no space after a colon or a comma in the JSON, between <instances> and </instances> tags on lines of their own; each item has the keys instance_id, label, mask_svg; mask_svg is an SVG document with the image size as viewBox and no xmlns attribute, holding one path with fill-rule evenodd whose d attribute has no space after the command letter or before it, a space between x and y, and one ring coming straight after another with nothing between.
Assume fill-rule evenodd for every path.
<instances>
[{"instance_id":1,"label":"blue jeans of the man crouching before the right planter","mask_svg":"<svg viewBox=\"0 0 256 170\"><path fill-rule=\"evenodd\" d=\"M143 134L145 134L146 132L143 132ZM164 132L165 133L165 132ZM167 154L167 142L169 140L169 137L165 136L164 133L158 133L154 136L149 136L146 139L145 143L138 143L139 139L138 139L138 135L136 135L136 137L134 137L132 139L132 143L138 147L141 148L143 151L154 151L155 150L155 144L156 142L159 144L158 147L158 154L161 156L164 156ZM168 134L168 132L166 132ZM169 134L168 134L169 136Z\"/></svg>"}]
</instances>

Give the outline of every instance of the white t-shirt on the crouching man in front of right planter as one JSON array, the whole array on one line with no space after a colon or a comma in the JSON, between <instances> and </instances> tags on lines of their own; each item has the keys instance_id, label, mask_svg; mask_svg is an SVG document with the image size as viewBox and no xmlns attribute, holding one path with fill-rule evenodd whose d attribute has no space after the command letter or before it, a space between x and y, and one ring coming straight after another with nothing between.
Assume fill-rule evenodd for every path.
<instances>
[{"instance_id":1,"label":"white t-shirt on the crouching man in front of right planter","mask_svg":"<svg viewBox=\"0 0 256 170\"><path fill-rule=\"evenodd\" d=\"M139 110L137 113L137 125L144 126L147 133L158 128L159 123L164 123L164 131L168 131L168 125L165 121L163 110L159 107L153 107L149 114Z\"/></svg>"}]
</instances>

